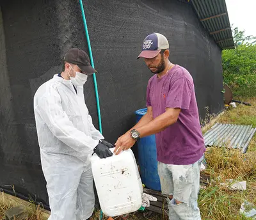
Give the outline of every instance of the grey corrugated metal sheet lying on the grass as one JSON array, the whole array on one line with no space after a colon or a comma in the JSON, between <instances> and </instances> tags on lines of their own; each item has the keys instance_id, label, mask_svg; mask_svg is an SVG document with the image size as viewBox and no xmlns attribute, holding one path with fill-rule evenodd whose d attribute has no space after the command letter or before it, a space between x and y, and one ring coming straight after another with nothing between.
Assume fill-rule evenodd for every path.
<instances>
[{"instance_id":1,"label":"grey corrugated metal sheet lying on the grass","mask_svg":"<svg viewBox=\"0 0 256 220\"><path fill-rule=\"evenodd\" d=\"M239 148L245 153L255 132L252 125L216 123L204 134L204 142L205 146Z\"/></svg>"}]
</instances>

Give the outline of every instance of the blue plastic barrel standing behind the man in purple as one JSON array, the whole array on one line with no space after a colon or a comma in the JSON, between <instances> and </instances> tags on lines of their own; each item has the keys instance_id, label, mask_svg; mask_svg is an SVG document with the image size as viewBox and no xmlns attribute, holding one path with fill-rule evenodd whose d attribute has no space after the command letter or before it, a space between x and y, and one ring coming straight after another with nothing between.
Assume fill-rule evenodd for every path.
<instances>
[{"instance_id":1,"label":"blue plastic barrel standing behind the man in purple","mask_svg":"<svg viewBox=\"0 0 256 220\"><path fill-rule=\"evenodd\" d=\"M136 111L137 122L139 122L141 117L146 113L147 109ZM138 155L140 175L143 184L145 184L148 189L161 191L160 179L157 173L156 138L154 135L141 138L138 141Z\"/></svg>"}]
</instances>

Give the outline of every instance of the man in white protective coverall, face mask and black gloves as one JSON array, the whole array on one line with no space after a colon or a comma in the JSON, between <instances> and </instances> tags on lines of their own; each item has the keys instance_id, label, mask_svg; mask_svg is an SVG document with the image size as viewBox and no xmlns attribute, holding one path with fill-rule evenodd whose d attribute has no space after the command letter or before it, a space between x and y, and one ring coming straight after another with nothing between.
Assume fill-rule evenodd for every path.
<instances>
[{"instance_id":1,"label":"man in white protective coverall, face mask and black gloves","mask_svg":"<svg viewBox=\"0 0 256 220\"><path fill-rule=\"evenodd\" d=\"M63 62L63 72L42 84L34 97L49 220L86 220L95 205L90 157L93 152L109 157L113 146L93 126L84 102L83 85L96 72L88 55L72 48Z\"/></svg>"}]
</instances>

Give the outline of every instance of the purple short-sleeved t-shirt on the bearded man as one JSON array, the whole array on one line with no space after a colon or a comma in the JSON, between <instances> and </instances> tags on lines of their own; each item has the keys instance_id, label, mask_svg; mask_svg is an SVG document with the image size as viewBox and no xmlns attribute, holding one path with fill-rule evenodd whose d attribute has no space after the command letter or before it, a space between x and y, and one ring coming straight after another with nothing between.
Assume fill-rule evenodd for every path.
<instances>
[{"instance_id":1,"label":"purple short-sleeved t-shirt on the bearded man","mask_svg":"<svg viewBox=\"0 0 256 220\"><path fill-rule=\"evenodd\" d=\"M181 109L177 122L156 134L157 161L177 165L198 161L205 146L194 83L188 70L175 65L161 79L154 75L148 81L147 106L152 106L154 118L167 107Z\"/></svg>"}]
</instances>

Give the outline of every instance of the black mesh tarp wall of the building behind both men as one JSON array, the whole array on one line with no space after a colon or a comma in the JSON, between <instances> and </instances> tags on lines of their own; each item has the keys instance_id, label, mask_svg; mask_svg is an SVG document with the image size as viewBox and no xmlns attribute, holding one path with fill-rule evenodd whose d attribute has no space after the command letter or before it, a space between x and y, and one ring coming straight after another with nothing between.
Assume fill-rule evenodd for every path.
<instances>
[{"instance_id":1,"label":"black mesh tarp wall of the building behind both men","mask_svg":"<svg viewBox=\"0 0 256 220\"><path fill-rule=\"evenodd\" d=\"M103 134L114 142L145 107L151 73L137 60L152 32L170 42L170 60L193 75L200 116L223 109L221 49L193 11L177 0L83 1L99 86ZM79 1L1 1L0 185L48 203L33 114L36 89L61 72L70 47L87 51ZM92 77L84 86L97 126Z\"/></svg>"}]
</instances>

